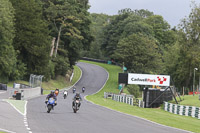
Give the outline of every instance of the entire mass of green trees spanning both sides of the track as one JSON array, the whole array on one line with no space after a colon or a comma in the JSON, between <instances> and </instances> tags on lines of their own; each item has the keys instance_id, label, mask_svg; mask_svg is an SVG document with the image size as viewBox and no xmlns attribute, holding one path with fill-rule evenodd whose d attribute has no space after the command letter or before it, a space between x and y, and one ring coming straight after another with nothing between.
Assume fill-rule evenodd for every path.
<instances>
[{"instance_id":1,"label":"entire mass of green trees spanning both sides of the track","mask_svg":"<svg viewBox=\"0 0 200 133\"><path fill-rule=\"evenodd\" d=\"M200 5L171 28L148 10L90 14L88 0L1 0L0 81L65 76L82 56L112 59L128 72L170 75L179 89L200 69ZM196 84L199 71L196 71Z\"/></svg>"}]
</instances>

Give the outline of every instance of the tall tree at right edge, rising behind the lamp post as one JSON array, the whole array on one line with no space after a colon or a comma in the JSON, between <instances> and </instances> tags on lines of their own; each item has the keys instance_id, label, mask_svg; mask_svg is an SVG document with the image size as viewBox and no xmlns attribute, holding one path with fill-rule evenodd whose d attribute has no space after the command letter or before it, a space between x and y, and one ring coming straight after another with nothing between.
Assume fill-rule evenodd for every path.
<instances>
[{"instance_id":1,"label":"tall tree at right edge, rising behind the lamp post","mask_svg":"<svg viewBox=\"0 0 200 133\"><path fill-rule=\"evenodd\" d=\"M194 68L200 66L200 5L192 3L192 11L188 18L179 25L177 43L172 46L168 63L169 73L178 87L191 88ZM170 54L170 53L169 53ZM169 57L169 54L167 57ZM198 78L196 77L198 80Z\"/></svg>"}]
</instances>

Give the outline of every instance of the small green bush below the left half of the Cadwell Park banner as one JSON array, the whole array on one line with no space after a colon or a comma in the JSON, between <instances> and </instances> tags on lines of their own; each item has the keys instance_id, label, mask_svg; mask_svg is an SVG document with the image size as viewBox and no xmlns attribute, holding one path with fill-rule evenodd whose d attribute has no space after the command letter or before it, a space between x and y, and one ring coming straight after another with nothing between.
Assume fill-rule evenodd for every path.
<instances>
[{"instance_id":1,"label":"small green bush below the left half of the Cadwell Park banner","mask_svg":"<svg viewBox=\"0 0 200 133\"><path fill-rule=\"evenodd\" d=\"M131 95L134 95L135 98L140 97L142 94L138 85L128 85L127 90Z\"/></svg>"}]
</instances>

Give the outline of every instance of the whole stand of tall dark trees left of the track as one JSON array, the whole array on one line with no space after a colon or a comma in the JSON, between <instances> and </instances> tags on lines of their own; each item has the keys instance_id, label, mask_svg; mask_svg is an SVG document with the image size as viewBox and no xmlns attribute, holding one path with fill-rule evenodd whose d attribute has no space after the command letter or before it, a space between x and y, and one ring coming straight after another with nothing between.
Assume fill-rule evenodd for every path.
<instances>
[{"instance_id":1,"label":"whole stand of tall dark trees left of the track","mask_svg":"<svg viewBox=\"0 0 200 133\"><path fill-rule=\"evenodd\" d=\"M93 40L88 8L88 0L1 0L0 81L65 76Z\"/></svg>"}]
</instances>

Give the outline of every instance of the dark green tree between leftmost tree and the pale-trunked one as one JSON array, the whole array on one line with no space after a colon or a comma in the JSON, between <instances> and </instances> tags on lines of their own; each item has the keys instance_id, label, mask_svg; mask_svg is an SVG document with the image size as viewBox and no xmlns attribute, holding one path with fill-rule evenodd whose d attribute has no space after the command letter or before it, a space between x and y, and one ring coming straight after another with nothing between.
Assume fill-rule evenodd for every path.
<instances>
[{"instance_id":1,"label":"dark green tree between leftmost tree and the pale-trunked one","mask_svg":"<svg viewBox=\"0 0 200 133\"><path fill-rule=\"evenodd\" d=\"M18 60L27 66L27 75L38 74L50 78L50 40L42 7L35 0L10 0L15 8L16 36L14 48L19 51Z\"/></svg>"}]
</instances>

